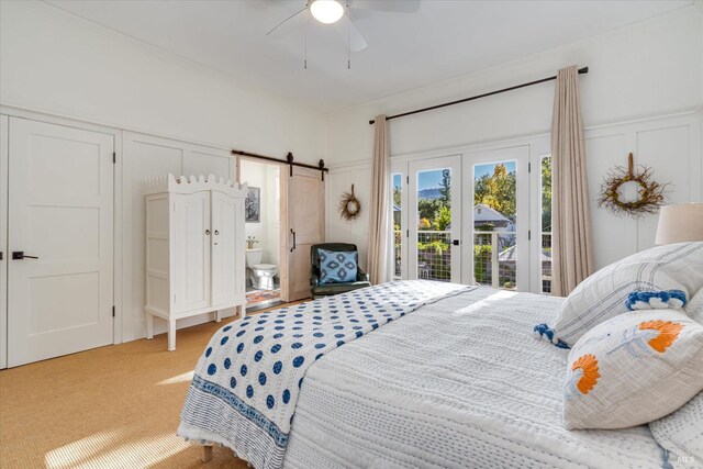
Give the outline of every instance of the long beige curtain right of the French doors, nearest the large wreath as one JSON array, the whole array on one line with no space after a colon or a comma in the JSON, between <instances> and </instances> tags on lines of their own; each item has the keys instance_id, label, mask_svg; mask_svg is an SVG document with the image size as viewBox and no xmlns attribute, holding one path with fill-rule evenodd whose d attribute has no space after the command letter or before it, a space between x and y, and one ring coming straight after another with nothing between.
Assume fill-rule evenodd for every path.
<instances>
[{"instance_id":1,"label":"long beige curtain right of the French doors, nearest the large wreath","mask_svg":"<svg viewBox=\"0 0 703 469\"><path fill-rule=\"evenodd\" d=\"M576 66L557 74L551 121L551 293L568 295L593 272L583 121Z\"/></svg>"}]
</instances>

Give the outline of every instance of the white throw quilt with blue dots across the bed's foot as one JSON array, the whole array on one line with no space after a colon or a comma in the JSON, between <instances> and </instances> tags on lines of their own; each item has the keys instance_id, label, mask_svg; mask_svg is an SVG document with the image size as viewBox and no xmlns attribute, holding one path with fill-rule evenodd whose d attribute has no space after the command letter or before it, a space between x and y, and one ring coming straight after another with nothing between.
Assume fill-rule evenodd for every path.
<instances>
[{"instance_id":1,"label":"white throw quilt with blue dots across the bed's foot","mask_svg":"<svg viewBox=\"0 0 703 469\"><path fill-rule=\"evenodd\" d=\"M280 468L305 371L326 353L467 287L384 283L233 322L198 361L178 434Z\"/></svg>"}]
</instances>

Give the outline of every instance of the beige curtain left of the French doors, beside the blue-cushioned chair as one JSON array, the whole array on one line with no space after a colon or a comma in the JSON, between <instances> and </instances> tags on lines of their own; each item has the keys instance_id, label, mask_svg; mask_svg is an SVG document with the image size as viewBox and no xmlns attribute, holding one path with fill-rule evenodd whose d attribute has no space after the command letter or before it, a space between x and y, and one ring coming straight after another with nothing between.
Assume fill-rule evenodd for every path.
<instances>
[{"instance_id":1,"label":"beige curtain left of the French doors, beside the blue-cushioned chair","mask_svg":"<svg viewBox=\"0 0 703 469\"><path fill-rule=\"evenodd\" d=\"M371 283L388 280L388 209L389 156L386 115L377 115L373 127L373 167L371 169L371 203L369 205L368 273Z\"/></svg>"}]
</instances>

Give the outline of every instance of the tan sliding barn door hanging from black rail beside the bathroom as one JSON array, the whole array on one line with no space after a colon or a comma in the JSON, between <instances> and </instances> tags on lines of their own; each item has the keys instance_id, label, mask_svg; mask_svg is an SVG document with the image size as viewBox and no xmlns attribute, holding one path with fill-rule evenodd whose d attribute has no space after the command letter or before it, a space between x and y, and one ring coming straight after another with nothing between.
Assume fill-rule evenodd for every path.
<instances>
[{"instance_id":1,"label":"tan sliding barn door hanging from black rail beside the bathroom","mask_svg":"<svg viewBox=\"0 0 703 469\"><path fill-rule=\"evenodd\" d=\"M290 175L290 168L283 169ZM281 269L281 298L310 298L310 247L325 239L325 189L321 171L293 167L287 181L286 265Z\"/></svg>"}]
</instances>

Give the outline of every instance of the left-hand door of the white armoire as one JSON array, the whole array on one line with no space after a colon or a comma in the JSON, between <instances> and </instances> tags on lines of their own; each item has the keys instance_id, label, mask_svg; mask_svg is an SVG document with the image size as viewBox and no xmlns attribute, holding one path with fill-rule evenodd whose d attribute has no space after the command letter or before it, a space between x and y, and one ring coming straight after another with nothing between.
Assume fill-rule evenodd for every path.
<instances>
[{"instance_id":1,"label":"left-hand door of the white armoire","mask_svg":"<svg viewBox=\"0 0 703 469\"><path fill-rule=\"evenodd\" d=\"M210 306L210 191L172 194L171 203L171 312Z\"/></svg>"}]
</instances>

